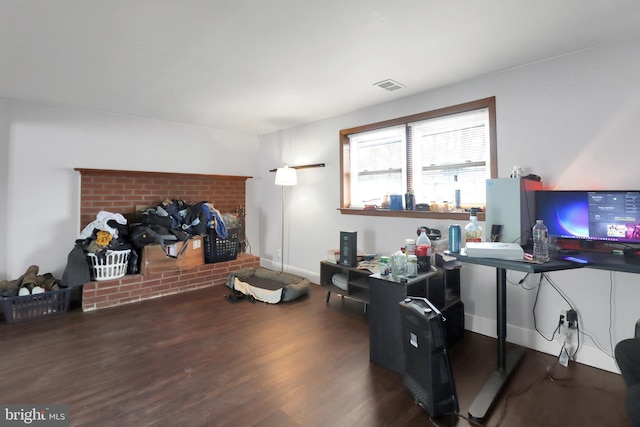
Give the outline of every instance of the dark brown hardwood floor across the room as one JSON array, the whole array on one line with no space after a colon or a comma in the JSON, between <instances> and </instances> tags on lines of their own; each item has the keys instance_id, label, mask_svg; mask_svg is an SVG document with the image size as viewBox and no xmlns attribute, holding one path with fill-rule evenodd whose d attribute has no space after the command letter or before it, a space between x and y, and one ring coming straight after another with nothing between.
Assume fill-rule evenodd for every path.
<instances>
[{"instance_id":1,"label":"dark brown hardwood floor across the room","mask_svg":"<svg viewBox=\"0 0 640 427\"><path fill-rule=\"evenodd\" d=\"M431 420L369 362L362 305L230 303L222 286L93 313L0 321L0 403L69 404L72 426L469 426ZM466 416L496 341L450 349ZM628 426L617 374L527 350L488 426Z\"/></svg>"}]
</instances>

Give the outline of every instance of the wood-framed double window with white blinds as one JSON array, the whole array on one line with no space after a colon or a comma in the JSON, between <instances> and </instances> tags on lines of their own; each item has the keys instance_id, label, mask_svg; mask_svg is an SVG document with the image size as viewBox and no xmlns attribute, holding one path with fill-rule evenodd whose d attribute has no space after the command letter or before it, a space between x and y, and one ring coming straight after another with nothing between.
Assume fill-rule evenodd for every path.
<instances>
[{"instance_id":1,"label":"wood-framed double window with white blinds","mask_svg":"<svg viewBox=\"0 0 640 427\"><path fill-rule=\"evenodd\" d=\"M485 205L497 176L495 98L340 131L342 209L386 207L385 195L415 193L417 203Z\"/></svg>"}]
</instances>

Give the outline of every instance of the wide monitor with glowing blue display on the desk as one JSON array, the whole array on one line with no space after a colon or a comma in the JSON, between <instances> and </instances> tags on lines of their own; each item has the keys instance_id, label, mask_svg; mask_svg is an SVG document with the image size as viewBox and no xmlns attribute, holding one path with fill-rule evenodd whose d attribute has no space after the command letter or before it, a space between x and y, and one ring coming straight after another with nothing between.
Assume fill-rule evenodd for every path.
<instances>
[{"instance_id":1,"label":"wide monitor with glowing blue display on the desk","mask_svg":"<svg viewBox=\"0 0 640 427\"><path fill-rule=\"evenodd\" d=\"M536 218L554 237L640 243L640 191L536 191Z\"/></svg>"}]
</instances>

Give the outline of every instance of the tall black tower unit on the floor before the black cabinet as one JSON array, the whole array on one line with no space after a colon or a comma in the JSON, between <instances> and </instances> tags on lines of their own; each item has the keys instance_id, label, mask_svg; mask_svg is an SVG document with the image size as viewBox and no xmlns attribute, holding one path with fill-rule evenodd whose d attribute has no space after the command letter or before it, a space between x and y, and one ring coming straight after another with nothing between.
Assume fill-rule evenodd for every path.
<instances>
[{"instance_id":1,"label":"tall black tower unit on the floor before the black cabinet","mask_svg":"<svg viewBox=\"0 0 640 427\"><path fill-rule=\"evenodd\" d=\"M400 315L404 388L434 418L457 413L442 313L426 298L408 297L400 302Z\"/></svg>"}]
</instances>

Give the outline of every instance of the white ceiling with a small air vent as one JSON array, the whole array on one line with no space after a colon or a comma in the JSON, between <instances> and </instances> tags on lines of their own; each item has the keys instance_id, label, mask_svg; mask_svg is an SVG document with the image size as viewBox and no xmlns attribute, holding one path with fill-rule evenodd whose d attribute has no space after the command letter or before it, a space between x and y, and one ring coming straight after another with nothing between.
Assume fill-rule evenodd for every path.
<instances>
[{"instance_id":1,"label":"white ceiling with a small air vent","mask_svg":"<svg viewBox=\"0 0 640 427\"><path fill-rule=\"evenodd\" d=\"M0 97L262 134L639 35L637 0L0 0Z\"/></svg>"}]
</instances>

